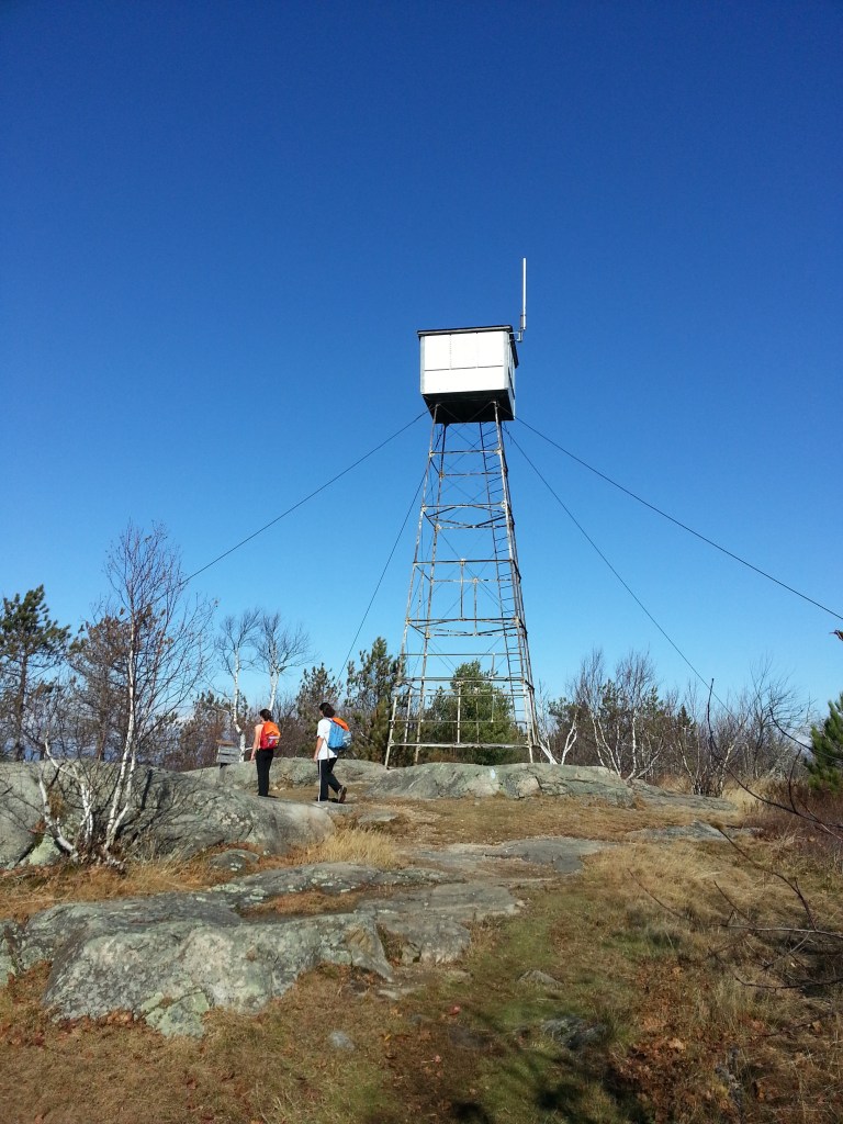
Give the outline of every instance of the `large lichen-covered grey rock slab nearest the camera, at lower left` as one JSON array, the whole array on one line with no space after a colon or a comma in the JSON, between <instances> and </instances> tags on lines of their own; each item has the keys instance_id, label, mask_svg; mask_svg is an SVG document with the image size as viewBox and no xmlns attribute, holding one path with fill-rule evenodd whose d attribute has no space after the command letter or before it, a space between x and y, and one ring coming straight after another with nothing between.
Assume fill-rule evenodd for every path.
<instances>
[{"instance_id":1,"label":"large lichen-covered grey rock slab nearest the camera, at lower left","mask_svg":"<svg viewBox=\"0 0 843 1124\"><path fill-rule=\"evenodd\" d=\"M344 913L251 913L281 895L368 888L371 898ZM164 1034L199 1035L212 1007L257 1010L320 963L390 980L381 934L404 963L443 963L468 946L466 923L517 908L504 887L448 882L441 871L309 864L192 894L62 903L24 925L0 923L0 969L52 964L44 1004L58 1017L128 1010Z\"/></svg>"}]
</instances>

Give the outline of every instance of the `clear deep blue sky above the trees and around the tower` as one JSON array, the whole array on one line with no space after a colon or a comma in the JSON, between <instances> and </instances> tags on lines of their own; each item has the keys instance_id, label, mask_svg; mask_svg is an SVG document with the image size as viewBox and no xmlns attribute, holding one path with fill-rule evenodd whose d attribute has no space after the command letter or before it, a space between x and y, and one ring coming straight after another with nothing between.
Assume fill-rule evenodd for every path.
<instances>
[{"instance_id":1,"label":"clear deep blue sky above the trees and around the tower","mask_svg":"<svg viewBox=\"0 0 843 1124\"><path fill-rule=\"evenodd\" d=\"M0 590L78 624L129 519L193 572L424 409L418 328L517 323L520 420L843 614L843 6L0 8ZM716 689L821 709L843 620L511 434ZM338 669L429 424L201 573ZM510 446L534 673L690 672ZM344 551L327 545L339 528ZM356 647L397 650L414 510Z\"/></svg>"}]
</instances>

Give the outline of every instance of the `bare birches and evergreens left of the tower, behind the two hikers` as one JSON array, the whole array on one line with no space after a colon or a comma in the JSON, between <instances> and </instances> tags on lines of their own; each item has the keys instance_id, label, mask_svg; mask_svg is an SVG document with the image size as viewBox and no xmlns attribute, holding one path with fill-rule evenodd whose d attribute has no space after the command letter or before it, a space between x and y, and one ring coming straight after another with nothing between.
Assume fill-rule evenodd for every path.
<instances>
[{"instance_id":1,"label":"bare birches and evergreens left of the tower, behind the two hikers","mask_svg":"<svg viewBox=\"0 0 843 1124\"><path fill-rule=\"evenodd\" d=\"M398 673L382 638L342 682L324 664L303 670L309 637L280 611L252 608L216 624L160 526L129 525L105 573L108 592L75 633L52 618L43 586L3 597L0 758L194 769L214 763L220 742L245 750L266 706L294 755L312 749L326 698L352 714L357 752L382 758ZM285 690L293 671L299 683ZM246 682L262 685L260 698L247 700Z\"/></svg>"}]
</instances>

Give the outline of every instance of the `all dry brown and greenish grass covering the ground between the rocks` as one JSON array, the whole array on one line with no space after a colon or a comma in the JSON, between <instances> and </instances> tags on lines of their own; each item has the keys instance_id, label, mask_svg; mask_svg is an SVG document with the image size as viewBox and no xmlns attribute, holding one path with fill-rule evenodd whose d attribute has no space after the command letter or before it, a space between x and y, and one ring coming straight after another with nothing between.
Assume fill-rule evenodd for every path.
<instances>
[{"instance_id":1,"label":"all dry brown and greenish grass covering the ground between the rocks","mask_svg":"<svg viewBox=\"0 0 843 1124\"><path fill-rule=\"evenodd\" d=\"M383 827L338 824L291 861L384 865L414 843L504 842L536 835L622 840L697 814L582 807L545 799L401 804ZM744 845L743 843L741 844ZM372 846L382 849L372 859ZM53 1023L39 997L46 970L0 991L0 1089L9 1124L839 1124L843 1022L799 991L740 980L758 946L722 922L787 906L770 870L785 864L837 909L840 877L781 840L728 844L646 842L592 855L575 878L519 888L520 916L474 927L454 969L401 969L400 997L341 968L302 977L253 1017L215 1012L201 1041L165 1040L124 1015ZM338 850L334 850L338 849ZM266 860L262 860L262 865ZM754 863L754 864L753 864ZM156 892L207 885L201 860L179 867L53 872L27 888L0 882L0 916L51 899ZM140 888L144 888L143 890ZM343 896L342 908L353 906ZM337 899L291 895L282 914ZM559 980L547 995L518 982L528 968ZM568 1051L542 1019L572 1014L606 1039ZM353 1053L329 1044L344 1031Z\"/></svg>"}]
</instances>

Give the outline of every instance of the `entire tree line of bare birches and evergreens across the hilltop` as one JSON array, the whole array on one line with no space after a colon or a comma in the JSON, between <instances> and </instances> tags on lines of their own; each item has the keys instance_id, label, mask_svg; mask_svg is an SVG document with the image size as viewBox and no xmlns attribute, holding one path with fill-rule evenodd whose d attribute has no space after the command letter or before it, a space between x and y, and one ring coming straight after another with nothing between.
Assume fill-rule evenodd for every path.
<instances>
[{"instance_id":1,"label":"entire tree line of bare birches and evergreens across the hilltop","mask_svg":"<svg viewBox=\"0 0 843 1124\"><path fill-rule=\"evenodd\" d=\"M215 624L215 607L190 595L179 552L160 526L129 525L110 547L105 573L108 591L75 634L51 618L43 586L3 597L2 758L121 762L127 777L138 761L194 769L214 763L220 742L245 750L263 706L278 716L282 752L302 755L327 698L350 719L355 753L384 760L402 669L382 637L337 676L324 663L308 667L307 633L274 608ZM261 697L247 700L244 685L255 681L263 683ZM507 699L479 664L457 668L454 682L468 700L460 722L477 726L477 742L517 740ZM783 776L801 744L817 782L843 777L843 696L824 723L813 724L808 705L769 663L719 700L694 687L665 690L646 653L631 652L609 669L597 649L562 695L537 695L542 741L561 763L598 764L651 782L677 778L695 794L718 796L729 778L753 786ZM456 741L453 705L448 692L434 700L425 737ZM455 753L439 747L436 758ZM462 752L469 758L493 764L518 754L480 747Z\"/></svg>"}]
</instances>

